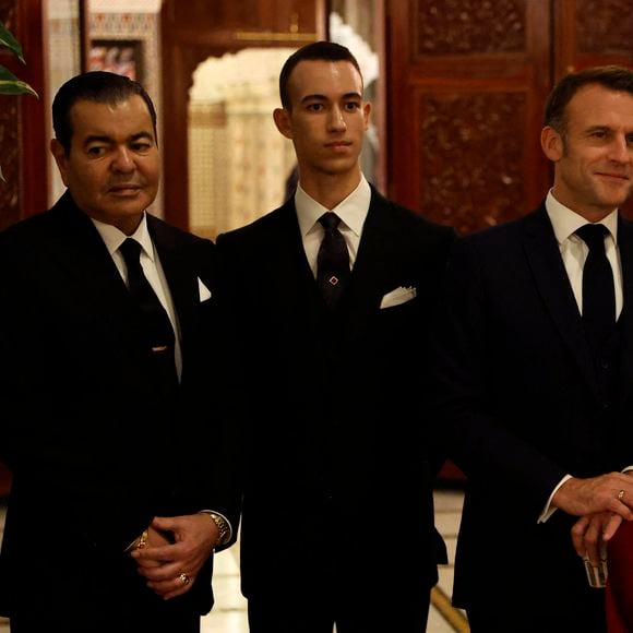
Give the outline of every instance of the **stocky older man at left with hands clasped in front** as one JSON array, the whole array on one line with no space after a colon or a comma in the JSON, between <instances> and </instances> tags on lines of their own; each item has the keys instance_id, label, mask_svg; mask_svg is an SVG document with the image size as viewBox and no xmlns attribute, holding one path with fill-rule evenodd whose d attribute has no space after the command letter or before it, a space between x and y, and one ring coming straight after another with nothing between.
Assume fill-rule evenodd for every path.
<instances>
[{"instance_id":1,"label":"stocky older man at left with hands clasped in front","mask_svg":"<svg viewBox=\"0 0 633 633\"><path fill-rule=\"evenodd\" d=\"M12 633L195 633L240 503L211 353L215 249L146 212L159 155L141 85L77 75L52 115L68 190L0 236L0 457L13 473L0 612ZM158 343L127 238L166 325Z\"/></svg>"}]
</instances>

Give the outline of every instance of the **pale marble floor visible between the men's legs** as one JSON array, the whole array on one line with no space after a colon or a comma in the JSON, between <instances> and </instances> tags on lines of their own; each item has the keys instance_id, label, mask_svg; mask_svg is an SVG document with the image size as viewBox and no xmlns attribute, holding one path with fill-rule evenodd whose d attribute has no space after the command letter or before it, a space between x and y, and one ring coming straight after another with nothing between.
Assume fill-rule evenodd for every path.
<instances>
[{"instance_id":1,"label":"pale marble floor visible between the men's legs","mask_svg":"<svg viewBox=\"0 0 633 633\"><path fill-rule=\"evenodd\" d=\"M458 489L437 490L435 524L449 548L449 564L440 568L440 582L433 589L432 607L426 633L467 633L468 624L462 611L451 607L453 560L463 493ZM3 524L0 506L0 527ZM201 633L248 633L246 600L239 592L239 548L232 547L216 557L213 577L215 607L202 619ZM46 625L43 625L46 631ZM10 626L0 618L0 633Z\"/></svg>"}]
</instances>

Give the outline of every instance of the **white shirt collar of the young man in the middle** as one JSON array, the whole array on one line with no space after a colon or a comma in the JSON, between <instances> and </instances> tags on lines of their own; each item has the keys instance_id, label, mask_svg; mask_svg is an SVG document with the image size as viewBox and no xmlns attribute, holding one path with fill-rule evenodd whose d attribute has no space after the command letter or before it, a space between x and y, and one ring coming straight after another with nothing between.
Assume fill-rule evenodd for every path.
<instances>
[{"instance_id":1,"label":"white shirt collar of the young man in the middle","mask_svg":"<svg viewBox=\"0 0 633 633\"><path fill-rule=\"evenodd\" d=\"M362 174L358 187L332 210L325 208L322 204L319 204L301 189L300 184L298 184L295 193L295 206L297 208L301 237L306 237L308 231L314 227L324 213L333 211L341 218L341 222L345 224L358 238L360 238L370 202L371 188Z\"/></svg>"}]
</instances>

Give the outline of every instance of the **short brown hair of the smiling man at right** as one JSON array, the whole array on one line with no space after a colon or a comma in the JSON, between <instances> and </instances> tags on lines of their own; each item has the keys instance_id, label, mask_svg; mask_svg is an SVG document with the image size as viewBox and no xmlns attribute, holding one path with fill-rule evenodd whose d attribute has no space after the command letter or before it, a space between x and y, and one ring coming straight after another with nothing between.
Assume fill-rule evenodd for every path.
<instances>
[{"instance_id":1,"label":"short brown hair of the smiling man at right","mask_svg":"<svg viewBox=\"0 0 633 633\"><path fill-rule=\"evenodd\" d=\"M597 65L563 76L550 93L545 105L545 124L564 134L566 108L574 95L587 85L600 85L614 92L633 95L633 70L621 65Z\"/></svg>"}]
</instances>

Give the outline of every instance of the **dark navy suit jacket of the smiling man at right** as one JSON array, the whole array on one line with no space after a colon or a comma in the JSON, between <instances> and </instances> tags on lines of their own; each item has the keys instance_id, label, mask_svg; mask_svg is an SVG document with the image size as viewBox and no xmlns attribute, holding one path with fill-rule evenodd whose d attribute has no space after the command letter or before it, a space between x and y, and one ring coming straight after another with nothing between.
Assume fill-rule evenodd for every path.
<instances>
[{"instance_id":1,"label":"dark navy suit jacket of the smiling man at right","mask_svg":"<svg viewBox=\"0 0 633 633\"><path fill-rule=\"evenodd\" d=\"M594 631L590 613L601 609L572 547L575 518L557 511L537 519L565 474L633 464L630 223L620 220L618 242L624 309L610 403L545 206L463 238L449 266L433 393L450 453L468 479L453 598L461 607L515 605L525 626L516 631L537 625L530 617L540 618L532 630Z\"/></svg>"}]
</instances>

